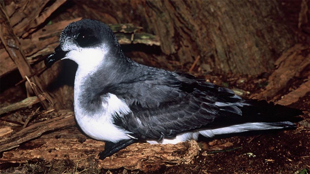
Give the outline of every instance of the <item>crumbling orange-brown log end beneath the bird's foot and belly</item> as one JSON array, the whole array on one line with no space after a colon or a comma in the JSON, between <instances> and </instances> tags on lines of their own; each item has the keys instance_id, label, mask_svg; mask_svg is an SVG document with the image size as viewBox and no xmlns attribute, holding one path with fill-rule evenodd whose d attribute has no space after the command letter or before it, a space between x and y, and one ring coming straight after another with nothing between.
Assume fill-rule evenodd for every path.
<instances>
[{"instance_id":1,"label":"crumbling orange-brown log end beneath the bird's foot and belly","mask_svg":"<svg viewBox=\"0 0 310 174\"><path fill-rule=\"evenodd\" d=\"M200 147L194 140L177 144L136 143L99 161L106 169L126 168L144 172L157 170L161 165L188 164L198 155Z\"/></svg>"}]
</instances>

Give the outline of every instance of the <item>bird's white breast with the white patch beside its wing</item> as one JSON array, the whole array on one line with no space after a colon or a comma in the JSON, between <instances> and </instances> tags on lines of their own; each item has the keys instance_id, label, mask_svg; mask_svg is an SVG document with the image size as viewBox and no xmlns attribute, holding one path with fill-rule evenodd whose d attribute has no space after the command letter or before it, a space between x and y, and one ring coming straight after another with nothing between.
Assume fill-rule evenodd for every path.
<instances>
[{"instance_id":1,"label":"bird's white breast with the white patch beside its wing","mask_svg":"<svg viewBox=\"0 0 310 174\"><path fill-rule=\"evenodd\" d=\"M79 104L79 93L81 92L81 82L83 74L77 71L74 83L74 112L78 125L83 132L91 138L101 141L118 142L124 139L130 139L128 131L121 129L113 124L115 113L119 115L131 112L124 100L118 99L116 95L108 93L102 97L102 109L98 112L88 112L83 110Z\"/></svg>"}]
</instances>

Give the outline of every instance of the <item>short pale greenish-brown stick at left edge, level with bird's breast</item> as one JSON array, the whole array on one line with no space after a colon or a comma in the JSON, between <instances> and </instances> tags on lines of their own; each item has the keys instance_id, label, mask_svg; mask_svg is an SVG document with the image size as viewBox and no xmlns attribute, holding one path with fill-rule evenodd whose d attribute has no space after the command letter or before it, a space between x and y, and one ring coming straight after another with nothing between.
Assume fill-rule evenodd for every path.
<instances>
[{"instance_id":1,"label":"short pale greenish-brown stick at left edge, level with bird's breast","mask_svg":"<svg viewBox=\"0 0 310 174\"><path fill-rule=\"evenodd\" d=\"M45 97L43 95L39 95L39 98L40 98L40 100L45 100ZM26 98L20 102L17 102L17 103L8 105L6 107L0 108L0 114L15 111L15 110L20 109L20 108L25 108L25 107L31 106L33 104L38 103L40 100L38 99L37 96L28 97L28 98Z\"/></svg>"}]
</instances>

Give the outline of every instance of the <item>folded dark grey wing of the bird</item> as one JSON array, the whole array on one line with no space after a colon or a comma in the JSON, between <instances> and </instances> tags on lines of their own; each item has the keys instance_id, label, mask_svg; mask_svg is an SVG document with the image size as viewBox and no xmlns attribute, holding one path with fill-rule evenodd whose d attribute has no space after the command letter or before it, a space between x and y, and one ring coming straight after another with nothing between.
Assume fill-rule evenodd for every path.
<instances>
[{"instance_id":1,"label":"folded dark grey wing of the bird","mask_svg":"<svg viewBox=\"0 0 310 174\"><path fill-rule=\"evenodd\" d=\"M147 76L115 85L111 91L125 99L132 111L123 117L114 117L115 124L132 132L132 136L169 138L216 125L214 122L223 117L241 115L240 108L234 105L241 100L229 89L196 80L192 75ZM223 106L216 105L216 102L223 103Z\"/></svg>"}]
</instances>

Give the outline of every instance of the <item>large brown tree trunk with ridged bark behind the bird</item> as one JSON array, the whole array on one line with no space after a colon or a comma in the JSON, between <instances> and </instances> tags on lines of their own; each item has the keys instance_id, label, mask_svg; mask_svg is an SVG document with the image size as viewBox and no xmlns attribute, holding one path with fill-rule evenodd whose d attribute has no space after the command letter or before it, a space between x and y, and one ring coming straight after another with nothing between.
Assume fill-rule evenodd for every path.
<instances>
[{"instance_id":1,"label":"large brown tree trunk with ridged bark behind the bird","mask_svg":"<svg viewBox=\"0 0 310 174\"><path fill-rule=\"evenodd\" d=\"M100 9L89 18L134 21L160 37L163 53L181 64L200 56L200 65L207 71L267 72L295 42L281 23L283 14L276 1L106 1L77 5L86 8L84 3L92 10Z\"/></svg>"}]
</instances>

